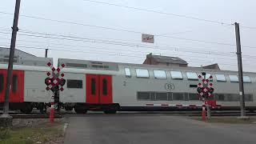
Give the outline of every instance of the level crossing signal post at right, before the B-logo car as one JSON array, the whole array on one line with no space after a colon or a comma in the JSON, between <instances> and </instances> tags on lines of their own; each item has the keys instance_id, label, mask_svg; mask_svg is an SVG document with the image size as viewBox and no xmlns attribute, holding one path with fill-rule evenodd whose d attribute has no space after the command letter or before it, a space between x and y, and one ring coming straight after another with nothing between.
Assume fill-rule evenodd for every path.
<instances>
[{"instance_id":1,"label":"level crossing signal post at right, before the B-logo car","mask_svg":"<svg viewBox=\"0 0 256 144\"><path fill-rule=\"evenodd\" d=\"M215 101L210 101L210 98L214 98L214 87L210 82L213 77L210 75L206 78L206 73L202 72L202 76L198 75L198 78L202 81L198 83L198 96L202 99L202 121L206 121L206 108L207 108L207 119L211 117L211 107L216 106ZM209 83L210 82L210 83ZM206 107L205 107L206 106Z\"/></svg>"}]
</instances>

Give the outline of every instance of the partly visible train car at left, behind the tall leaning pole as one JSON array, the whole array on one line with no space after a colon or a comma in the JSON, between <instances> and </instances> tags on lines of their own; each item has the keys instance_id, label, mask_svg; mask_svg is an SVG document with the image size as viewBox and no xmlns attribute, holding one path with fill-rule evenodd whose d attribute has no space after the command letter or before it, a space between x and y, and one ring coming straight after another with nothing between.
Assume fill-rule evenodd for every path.
<instances>
[{"instance_id":1,"label":"partly visible train car at left, behind the tall leaning pole","mask_svg":"<svg viewBox=\"0 0 256 144\"><path fill-rule=\"evenodd\" d=\"M52 94L46 90L44 81L46 72L50 71L46 63L52 61L52 58L38 57L14 59L10 110L30 113L34 107L42 110L45 104L50 102ZM5 101L7 68L8 59L0 58L0 107Z\"/></svg>"}]
</instances>

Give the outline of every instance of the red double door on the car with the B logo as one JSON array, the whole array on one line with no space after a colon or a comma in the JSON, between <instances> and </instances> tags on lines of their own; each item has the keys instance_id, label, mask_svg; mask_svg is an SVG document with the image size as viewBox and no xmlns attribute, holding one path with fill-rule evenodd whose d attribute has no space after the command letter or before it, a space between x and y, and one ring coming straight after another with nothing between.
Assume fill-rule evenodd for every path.
<instances>
[{"instance_id":1,"label":"red double door on the car with the B logo","mask_svg":"<svg viewBox=\"0 0 256 144\"><path fill-rule=\"evenodd\" d=\"M86 74L86 102L91 104L113 102L110 75Z\"/></svg>"}]
</instances>

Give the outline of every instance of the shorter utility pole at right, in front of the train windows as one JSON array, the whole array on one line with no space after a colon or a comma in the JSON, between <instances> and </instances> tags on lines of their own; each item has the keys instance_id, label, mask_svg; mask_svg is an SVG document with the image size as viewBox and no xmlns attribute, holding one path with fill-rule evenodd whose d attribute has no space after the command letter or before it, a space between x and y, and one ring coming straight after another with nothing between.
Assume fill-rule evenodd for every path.
<instances>
[{"instance_id":1,"label":"shorter utility pole at right, in front of the train windows","mask_svg":"<svg viewBox=\"0 0 256 144\"><path fill-rule=\"evenodd\" d=\"M239 77L241 118L246 118L245 92L243 88L243 78L242 78L242 52L241 52L239 23L234 22L234 27L235 27L235 38L237 43L237 55L238 55L238 77Z\"/></svg>"}]
</instances>

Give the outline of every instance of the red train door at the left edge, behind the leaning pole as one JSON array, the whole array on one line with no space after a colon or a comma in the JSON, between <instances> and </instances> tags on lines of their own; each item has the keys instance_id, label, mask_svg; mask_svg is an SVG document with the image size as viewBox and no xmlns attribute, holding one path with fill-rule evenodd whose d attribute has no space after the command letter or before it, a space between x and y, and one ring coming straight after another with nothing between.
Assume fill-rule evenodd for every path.
<instances>
[{"instance_id":1,"label":"red train door at the left edge, behind the leaning pole","mask_svg":"<svg viewBox=\"0 0 256 144\"><path fill-rule=\"evenodd\" d=\"M7 70L0 70L0 102L6 94ZM10 102L24 102L24 71L13 70L11 78Z\"/></svg>"}]
</instances>

